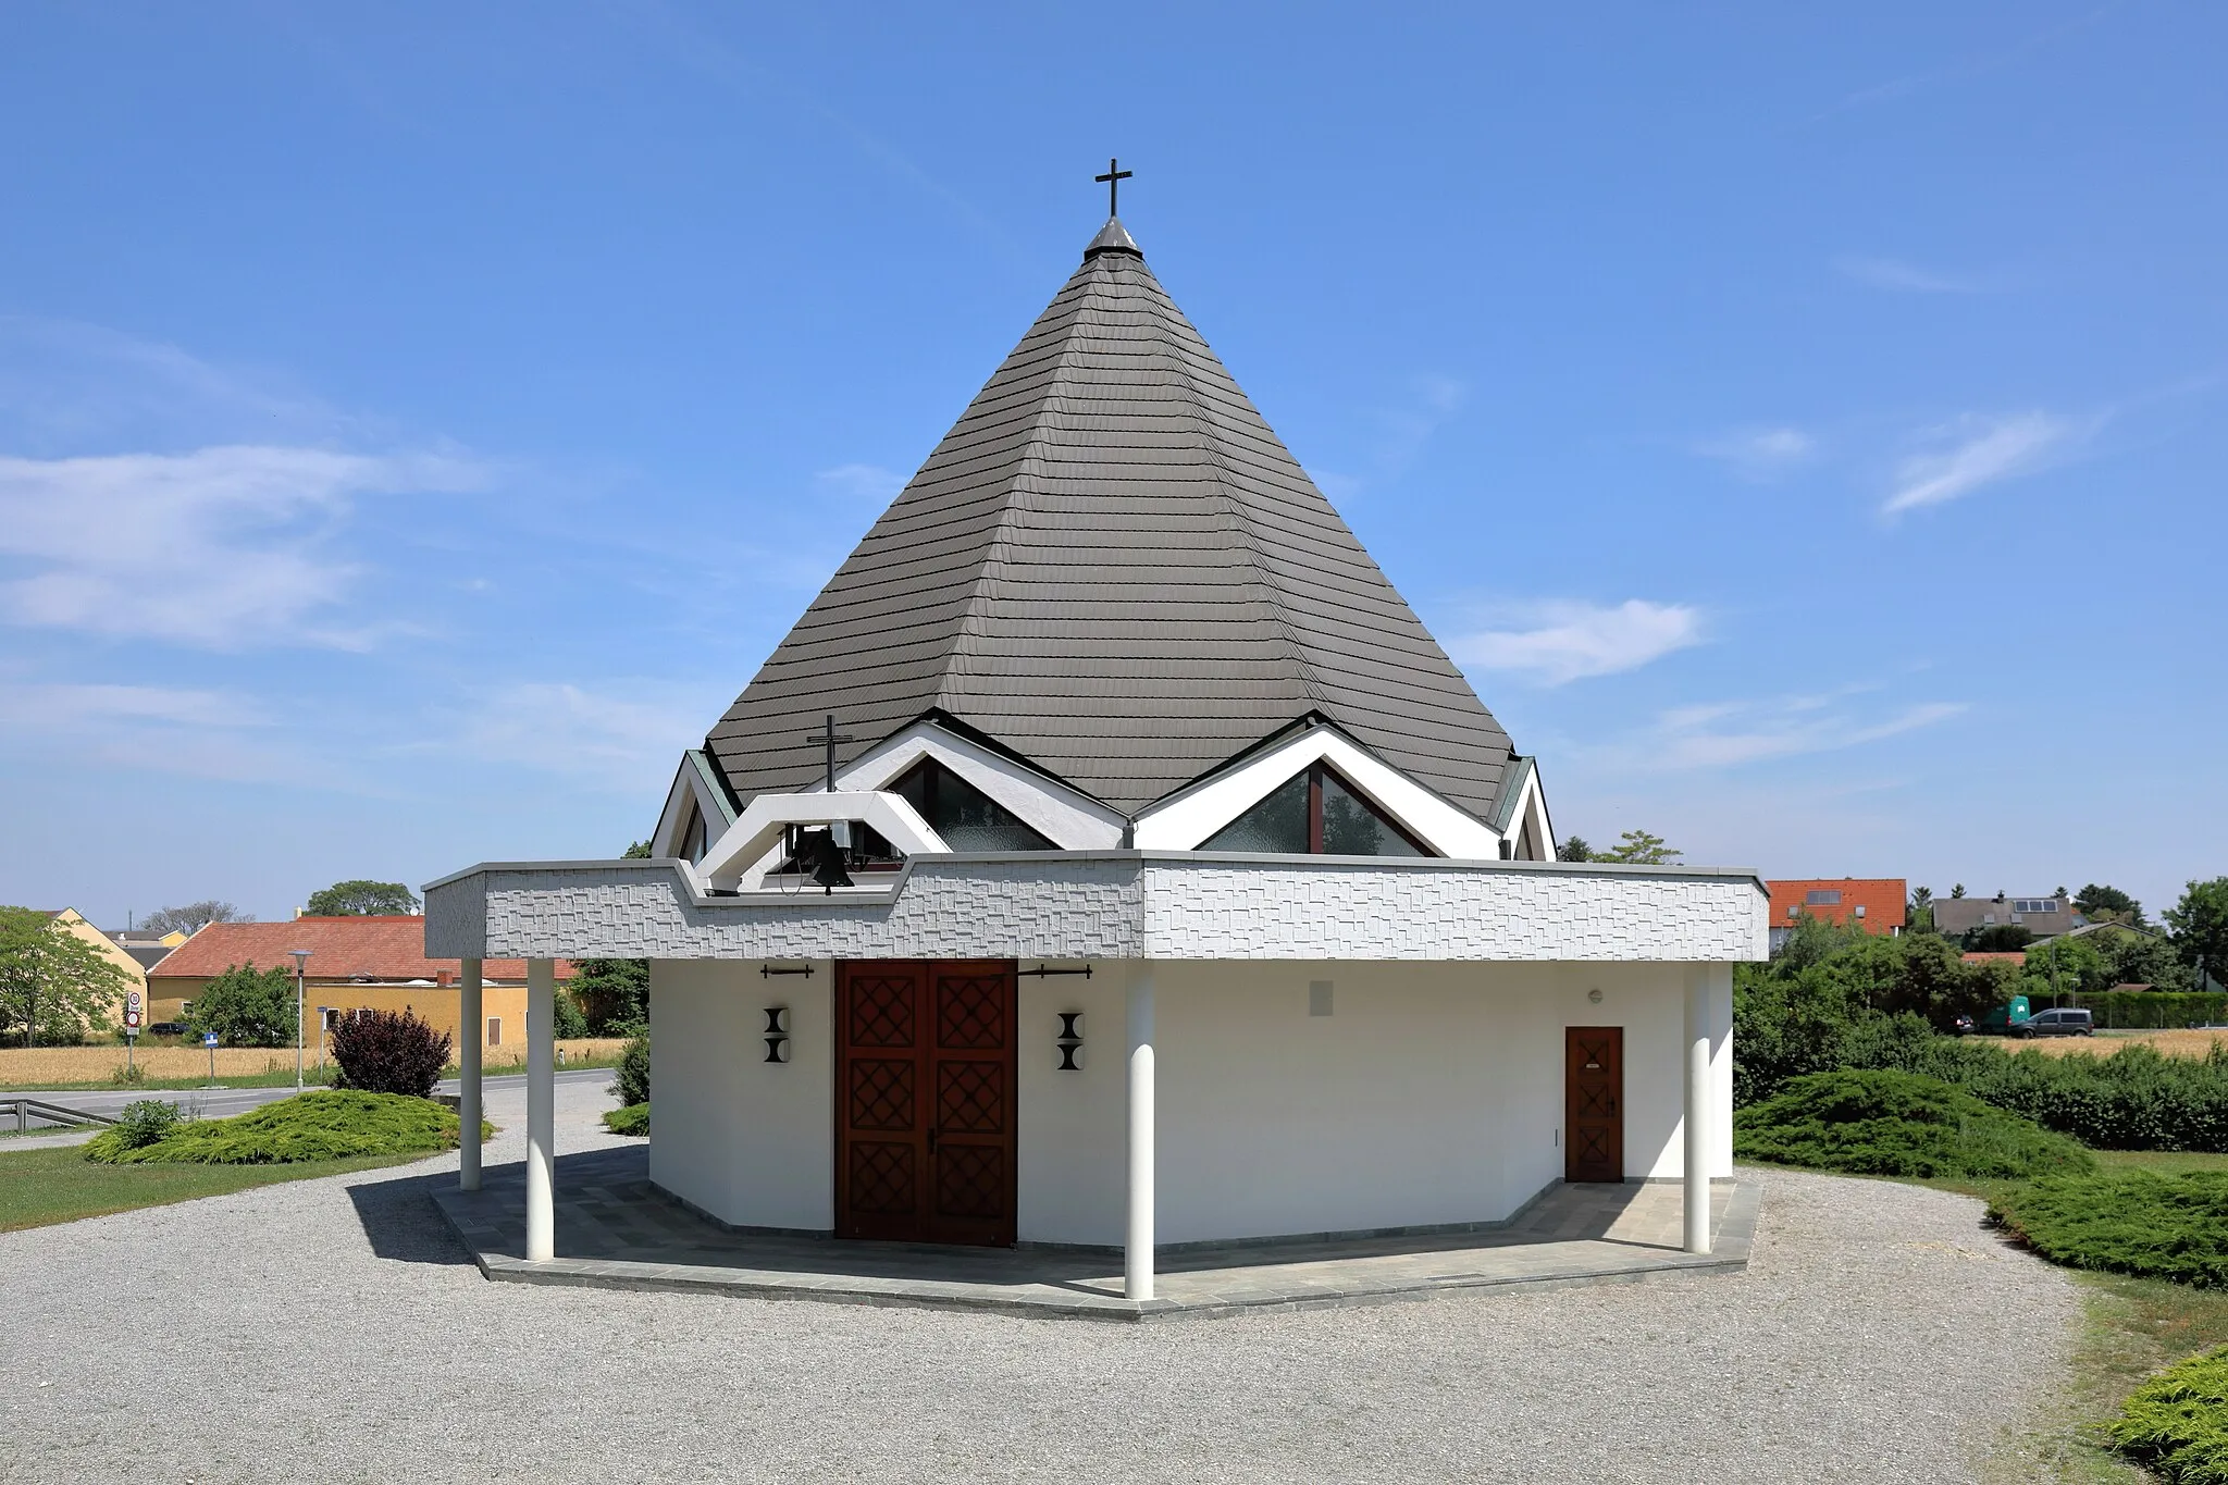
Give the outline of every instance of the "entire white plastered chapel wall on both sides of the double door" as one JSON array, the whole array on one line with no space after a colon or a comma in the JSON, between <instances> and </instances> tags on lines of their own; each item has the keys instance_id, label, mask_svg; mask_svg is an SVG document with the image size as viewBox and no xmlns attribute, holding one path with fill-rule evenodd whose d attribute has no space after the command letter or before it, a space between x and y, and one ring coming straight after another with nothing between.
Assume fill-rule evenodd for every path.
<instances>
[{"instance_id":1,"label":"entire white plastered chapel wall on both sides of the double door","mask_svg":"<svg viewBox=\"0 0 2228 1485\"><path fill-rule=\"evenodd\" d=\"M1123 1238L1125 989L1096 968L1020 980L1023 1242ZM651 966L651 1178L740 1227L833 1227L833 977L813 971ZM1711 1173L1731 1176L1729 966L1156 964L1159 1242L1511 1216L1562 1178L1564 1026L1624 1026L1626 1178L1678 1178L1689 975L1711 982ZM769 1004L791 1009L789 1064L760 1060ZM1083 1011L1076 1073L1061 1011Z\"/></svg>"}]
</instances>

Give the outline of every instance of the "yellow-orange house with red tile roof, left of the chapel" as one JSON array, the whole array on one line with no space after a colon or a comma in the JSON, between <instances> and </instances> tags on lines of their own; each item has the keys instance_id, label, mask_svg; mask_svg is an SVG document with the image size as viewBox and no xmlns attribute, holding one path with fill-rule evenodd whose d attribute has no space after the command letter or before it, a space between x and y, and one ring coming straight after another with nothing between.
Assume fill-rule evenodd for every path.
<instances>
[{"instance_id":1,"label":"yellow-orange house with red tile roof, left of the chapel","mask_svg":"<svg viewBox=\"0 0 2228 1485\"><path fill-rule=\"evenodd\" d=\"M234 966L294 971L294 951L305 948L303 993L312 1029L359 1011L414 1011L434 1031L461 1040L457 980L461 960L426 957L426 919L410 917L296 917L276 924L207 924L160 964L147 971L149 1024L178 1022L194 997L216 975ZM557 982L573 977L570 960L557 960ZM526 960L488 960L481 966L483 1020L479 1042L488 1049L526 1044Z\"/></svg>"}]
</instances>

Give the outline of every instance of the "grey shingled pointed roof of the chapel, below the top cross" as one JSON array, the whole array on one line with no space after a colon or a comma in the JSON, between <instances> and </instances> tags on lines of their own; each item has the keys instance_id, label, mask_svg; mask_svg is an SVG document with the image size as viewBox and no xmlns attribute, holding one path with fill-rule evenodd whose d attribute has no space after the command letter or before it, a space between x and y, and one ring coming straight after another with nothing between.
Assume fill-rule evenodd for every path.
<instances>
[{"instance_id":1,"label":"grey shingled pointed roof of the chapel, below the top cross","mask_svg":"<svg viewBox=\"0 0 2228 1485\"><path fill-rule=\"evenodd\" d=\"M1488 815L1508 735L1118 220L735 699L735 795L940 710L1134 815L1321 712Z\"/></svg>"}]
</instances>

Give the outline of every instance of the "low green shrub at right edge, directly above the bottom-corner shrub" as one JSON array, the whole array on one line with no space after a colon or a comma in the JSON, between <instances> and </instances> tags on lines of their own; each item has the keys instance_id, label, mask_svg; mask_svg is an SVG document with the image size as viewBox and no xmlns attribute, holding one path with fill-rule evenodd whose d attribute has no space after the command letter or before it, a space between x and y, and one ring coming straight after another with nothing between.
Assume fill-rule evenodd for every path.
<instances>
[{"instance_id":1,"label":"low green shrub at right edge, directly above the bottom-corner shrub","mask_svg":"<svg viewBox=\"0 0 2228 1485\"><path fill-rule=\"evenodd\" d=\"M2197 1289L2228 1287L2228 1173L2048 1178L1999 1193L1987 1220L2050 1262Z\"/></svg>"}]
</instances>

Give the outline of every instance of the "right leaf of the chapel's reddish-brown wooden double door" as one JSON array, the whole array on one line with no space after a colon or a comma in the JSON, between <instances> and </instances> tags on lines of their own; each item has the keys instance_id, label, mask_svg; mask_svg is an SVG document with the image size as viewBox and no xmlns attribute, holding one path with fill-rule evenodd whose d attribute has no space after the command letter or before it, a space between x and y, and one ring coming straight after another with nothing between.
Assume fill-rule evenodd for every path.
<instances>
[{"instance_id":1,"label":"right leaf of the chapel's reddish-brown wooden double door","mask_svg":"<svg viewBox=\"0 0 2228 1485\"><path fill-rule=\"evenodd\" d=\"M1012 962L929 966L929 1242L1014 1245Z\"/></svg>"}]
</instances>

